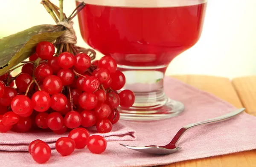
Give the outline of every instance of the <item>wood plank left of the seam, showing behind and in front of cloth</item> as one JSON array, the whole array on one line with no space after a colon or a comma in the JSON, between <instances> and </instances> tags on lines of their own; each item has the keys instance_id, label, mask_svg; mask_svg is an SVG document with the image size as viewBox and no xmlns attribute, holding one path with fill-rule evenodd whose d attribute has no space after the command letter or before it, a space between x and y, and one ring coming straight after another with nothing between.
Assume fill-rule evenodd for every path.
<instances>
[{"instance_id":1,"label":"wood plank left of the seam, showing behind and in front of cloth","mask_svg":"<svg viewBox=\"0 0 256 167\"><path fill-rule=\"evenodd\" d=\"M227 78L203 76L203 75L175 75L173 78L197 87L198 89L212 93L213 95L242 107L242 103L231 81ZM256 80L255 80L256 81ZM256 85L256 82L255 82ZM256 90L256 89L255 89ZM256 98L256 96L255 96ZM161 167L255 167L256 150L220 155L209 158L181 161Z\"/></svg>"}]
</instances>

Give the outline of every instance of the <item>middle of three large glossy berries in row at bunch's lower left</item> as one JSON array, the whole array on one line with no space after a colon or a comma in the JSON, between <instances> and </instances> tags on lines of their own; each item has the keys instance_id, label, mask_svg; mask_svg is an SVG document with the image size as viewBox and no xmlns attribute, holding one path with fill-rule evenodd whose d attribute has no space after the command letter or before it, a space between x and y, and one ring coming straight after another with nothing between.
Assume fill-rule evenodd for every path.
<instances>
[{"instance_id":1,"label":"middle of three large glossy berries in row at bunch's lower left","mask_svg":"<svg viewBox=\"0 0 256 167\"><path fill-rule=\"evenodd\" d=\"M51 106L51 98L47 92L41 90L32 95L31 104L36 111L45 112Z\"/></svg>"}]
</instances>

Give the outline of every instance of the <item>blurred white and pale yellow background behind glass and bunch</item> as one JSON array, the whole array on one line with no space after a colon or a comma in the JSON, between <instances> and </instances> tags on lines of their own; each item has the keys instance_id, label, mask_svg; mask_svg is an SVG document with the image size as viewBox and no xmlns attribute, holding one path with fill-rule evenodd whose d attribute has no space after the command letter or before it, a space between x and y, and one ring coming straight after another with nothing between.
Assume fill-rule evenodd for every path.
<instances>
[{"instance_id":1,"label":"blurred white and pale yellow background behind glass and bunch","mask_svg":"<svg viewBox=\"0 0 256 167\"><path fill-rule=\"evenodd\" d=\"M0 0L0 36L31 26L54 24L40 0ZM52 0L58 4L58 0ZM64 12L75 9L64 0ZM81 38L77 18L74 28ZM100 58L98 54L98 58ZM201 39L170 63L167 75L201 74L236 78L256 75L256 0L209 0Z\"/></svg>"}]
</instances>

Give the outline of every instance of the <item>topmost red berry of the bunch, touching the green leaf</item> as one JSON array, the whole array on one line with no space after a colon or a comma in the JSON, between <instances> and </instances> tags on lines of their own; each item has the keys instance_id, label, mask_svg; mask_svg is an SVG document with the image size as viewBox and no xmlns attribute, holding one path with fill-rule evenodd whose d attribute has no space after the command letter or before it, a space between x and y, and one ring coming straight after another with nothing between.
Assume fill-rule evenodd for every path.
<instances>
[{"instance_id":1,"label":"topmost red berry of the bunch, touching the green leaf","mask_svg":"<svg viewBox=\"0 0 256 167\"><path fill-rule=\"evenodd\" d=\"M55 53L55 47L48 41L39 42L35 49L36 54L43 60L51 59Z\"/></svg>"}]
</instances>

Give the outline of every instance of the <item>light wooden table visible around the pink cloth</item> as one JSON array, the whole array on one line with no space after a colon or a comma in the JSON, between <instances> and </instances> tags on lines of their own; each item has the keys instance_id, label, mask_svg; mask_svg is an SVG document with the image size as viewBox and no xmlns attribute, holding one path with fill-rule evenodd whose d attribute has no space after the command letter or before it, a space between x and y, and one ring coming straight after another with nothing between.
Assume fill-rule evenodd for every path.
<instances>
[{"instance_id":1,"label":"light wooden table visible around the pink cloth","mask_svg":"<svg viewBox=\"0 0 256 167\"><path fill-rule=\"evenodd\" d=\"M245 107L247 113L256 116L256 76L236 78L233 81L227 78L202 75L175 75L172 77L212 93L235 107ZM162 167L256 167L256 150L181 161Z\"/></svg>"}]
</instances>

